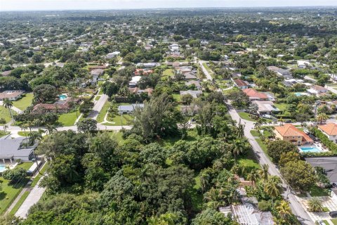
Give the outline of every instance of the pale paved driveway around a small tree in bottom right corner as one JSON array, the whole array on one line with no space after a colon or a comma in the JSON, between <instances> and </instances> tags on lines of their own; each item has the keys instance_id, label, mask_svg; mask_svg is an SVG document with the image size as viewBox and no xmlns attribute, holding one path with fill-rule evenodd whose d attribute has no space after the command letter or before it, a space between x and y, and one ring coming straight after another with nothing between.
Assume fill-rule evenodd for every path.
<instances>
[{"instance_id":1,"label":"pale paved driveway around a small tree in bottom right corner","mask_svg":"<svg viewBox=\"0 0 337 225\"><path fill-rule=\"evenodd\" d=\"M308 201L312 197L298 197L298 200L300 200L300 203L304 205L305 210L308 212L309 216L312 218L313 221L317 220L326 220L329 222L329 224L332 224L330 221L331 217L329 216L329 212L331 211L337 211L337 202L333 201L330 196L323 196L323 197L316 197L319 200L322 201L323 207L327 207L329 209L329 212L309 212L308 211Z\"/></svg>"}]
</instances>

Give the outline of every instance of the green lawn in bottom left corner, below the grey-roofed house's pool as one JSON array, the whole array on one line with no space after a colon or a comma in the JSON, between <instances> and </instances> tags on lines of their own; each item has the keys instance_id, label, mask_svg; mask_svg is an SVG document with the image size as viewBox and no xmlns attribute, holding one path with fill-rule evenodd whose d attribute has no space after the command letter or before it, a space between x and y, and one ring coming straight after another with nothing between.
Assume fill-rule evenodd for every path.
<instances>
[{"instance_id":1,"label":"green lawn in bottom left corner, below the grey-roofed house's pool","mask_svg":"<svg viewBox=\"0 0 337 225\"><path fill-rule=\"evenodd\" d=\"M0 191L0 214L13 203L13 200L18 196L22 188L27 184L28 179L22 180L18 184L9 184L9 181L0 177L2 190Z\"/></svg>"}]
</instances>

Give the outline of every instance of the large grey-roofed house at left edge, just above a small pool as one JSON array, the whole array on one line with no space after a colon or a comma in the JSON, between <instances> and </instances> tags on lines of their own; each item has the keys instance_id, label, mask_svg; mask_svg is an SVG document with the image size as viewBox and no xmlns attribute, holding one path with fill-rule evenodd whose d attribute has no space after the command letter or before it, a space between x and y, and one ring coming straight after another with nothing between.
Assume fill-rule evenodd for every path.
<instances>
[{"instance_id":1,"label":"large grey-roofed house at left edge, just above a small pool","mask_svg":"<svg viewBox=\"0 0 337 225\"><path fill-rule=\"evenodd\" d=\"M5 160L9 160L11 163L15 160L32 160L35 148L37 148L37 145L29 146L29 139L27 138L11 139L11 136L7 136L5 139L0 139L0 160L4 164Z\"/></svg>"}]
</instances>

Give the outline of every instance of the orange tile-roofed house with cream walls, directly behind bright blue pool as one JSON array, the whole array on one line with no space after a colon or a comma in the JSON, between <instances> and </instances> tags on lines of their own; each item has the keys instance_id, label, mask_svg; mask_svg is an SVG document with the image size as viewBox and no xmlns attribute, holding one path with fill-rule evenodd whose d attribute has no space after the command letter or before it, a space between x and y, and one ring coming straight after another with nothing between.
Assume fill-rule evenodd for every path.
<instances>
[{"instance_id":1,"label":"orange tile-roofed house with cream walls, directly behind bright blue pool","mask_svg":"<svg viewBox=\"0 0 337 225\"><path fill-rule=\"evenodd\" d=\"M293 124L284 124L283 126L275 127L275 136L277 139L289 141L298 146L313 143L308 134L297 129Z\"/></svg>"}]
</instances>

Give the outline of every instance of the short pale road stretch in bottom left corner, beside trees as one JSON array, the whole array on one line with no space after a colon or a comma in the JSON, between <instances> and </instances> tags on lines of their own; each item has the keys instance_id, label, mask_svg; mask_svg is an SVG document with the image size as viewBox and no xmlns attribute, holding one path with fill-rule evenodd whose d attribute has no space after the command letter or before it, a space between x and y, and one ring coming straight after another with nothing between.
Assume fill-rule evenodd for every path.
<instances>
[{"instance_id":1,"label":"short pale road stretch in bottom left corner, beside trees","mask_svg":"<svg viewBox=\"0 0 337 225\"><path fill-rule=\"evenodd\" d=\"M46 191L45 188L39 186L41 179L39 180L37 185L34 186L32 191L30 191L25 201L22 203L18 211L15 213L15 217L21 217L25 219L27 217L28 210L30 209L30 207L32 207L35 203L39 202L41 196L44 194L44 191Z\"/></svg>"}]
</instances>

